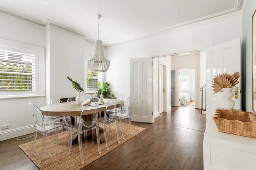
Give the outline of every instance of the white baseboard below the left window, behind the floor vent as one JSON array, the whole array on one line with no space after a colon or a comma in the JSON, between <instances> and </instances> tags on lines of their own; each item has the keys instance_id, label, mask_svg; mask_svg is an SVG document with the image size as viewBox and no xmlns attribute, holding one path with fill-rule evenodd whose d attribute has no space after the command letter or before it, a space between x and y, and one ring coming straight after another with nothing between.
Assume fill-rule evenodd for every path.
<instances>
[{"instance_id":1,"label":"white baseboard below the left window, behind the floor vent","mask_svg":"<svg viewBox=\"0 0 256 170\"><path fill-rule=\"evenodd\" d=\"M33 132L34 132L34 125L0 132L0 141L5 141L7 139L11 139L11 138L14 138L14 137L27 135L27 134L33 133Z\"/></svg>"}]
</instances>

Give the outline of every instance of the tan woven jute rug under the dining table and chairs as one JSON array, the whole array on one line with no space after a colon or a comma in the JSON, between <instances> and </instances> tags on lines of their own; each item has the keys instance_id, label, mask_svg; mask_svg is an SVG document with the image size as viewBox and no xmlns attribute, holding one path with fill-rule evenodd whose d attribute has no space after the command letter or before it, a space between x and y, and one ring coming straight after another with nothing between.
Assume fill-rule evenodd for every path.
<instances>
[{"instance_id":1,"label":"tan woven jute rug under the dining table and chairs","mask_svg":"<svg viewBox=\"0 0 256 170\"><path fill-rule=\"evenodd\" d=\"M80 170L81 168L89 165L90 163L92 163L96 159L99 159L103 155L106 155L108 152L111 152L121 144L125 143L135 135L145 130L145 128L132 126L133 135L131 135L129 124L124 123L123 129L125 140L122 139L122 133L119 130L120 143L118 143L115 126L111 125L111 134L108 135L109 150L107 150L106 148L106 143L102 143L100 144L101 154L98 153L98 145L96 141L95 144L92 144L91 141L88 141L86 148L83 142L83 165L80 161L80 152L78 144L72 145L71 154L67 155L67 132L59 133L59 144L54 144L53 135L47 137L45 154L40 165L38 164L38 161L42 148L42 139L38 139L35 143L33 155L30 157L30 159L40 170ZM104 133L100 133L100 137L104 137ZM26 155L29 155L31 146L32 142L29 142L22 144L19 147L24 151Z\"/></svg>"}]
</instances>

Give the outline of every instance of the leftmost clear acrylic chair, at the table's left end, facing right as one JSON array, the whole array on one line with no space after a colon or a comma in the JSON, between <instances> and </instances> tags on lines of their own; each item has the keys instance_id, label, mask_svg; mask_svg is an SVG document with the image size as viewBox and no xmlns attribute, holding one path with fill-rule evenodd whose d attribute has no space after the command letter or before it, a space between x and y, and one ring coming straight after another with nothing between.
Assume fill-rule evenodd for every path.
<instances>
[{"instance_id":1,"label":"leftmost clear acrylic chair, at the table's left end, facing right","mask_svg":"<svg viewBox=\"0 0 256 170\"><path fill-rule=\"evenodd\" d=\"M50 130L58 129L63 126L67 126L67 122L66 122L65 117L56 117L56 118L46 119L44 117L43 113L41 112L41 110L37 106L35 106L32 103L28 103L28 106L32 110L32 115L33 115L34 121L35 121L33 144L32 144L32 148L31 148L31 152L30 152L29 156L31 157L33 155L33 150L35 148L35 142L37 139L37 132L43 134L43 145L42 145L42 150L41 150L41 154L40 154L40 158L39 158L39 162L38 162L38 164L41 164L42 159L43 159L43 154L45 152L45 147L46 147L47 133ZM63 122L61 122L60 120L62 120ZM68 145L70 145L69 140L68 140ZM69 152L69 148L67 151Z\"/></svg>"}]
</instances>

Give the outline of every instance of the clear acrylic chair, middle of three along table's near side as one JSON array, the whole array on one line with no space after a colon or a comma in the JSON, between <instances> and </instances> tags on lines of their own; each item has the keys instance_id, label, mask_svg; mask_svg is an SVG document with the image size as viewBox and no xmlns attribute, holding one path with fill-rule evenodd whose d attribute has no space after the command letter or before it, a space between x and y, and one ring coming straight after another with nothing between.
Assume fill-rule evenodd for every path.
<instances>
[{"instance_id":1,"label":"clear acrylic chair, middle of three along table's near side","mask_svg":"<svg viewBox=\"0 0 256 170\"><path fill-rule=\"evenodd\" d=\"M115 112L113 113L113 112L109 111L109 109L114 109ZM111 123L115 123L115 128L117 131L117 141L118 141L118 143L120 143L119 134L118 134L117 100L113 100L113 101L109 102L109 104L106 106L104 117L99 118L98 123L103 125L107 150L109 150L108 138L107 138L107 128L106 128L106 126L108 124L110 126Z\"/></svg>"}]
</instances>

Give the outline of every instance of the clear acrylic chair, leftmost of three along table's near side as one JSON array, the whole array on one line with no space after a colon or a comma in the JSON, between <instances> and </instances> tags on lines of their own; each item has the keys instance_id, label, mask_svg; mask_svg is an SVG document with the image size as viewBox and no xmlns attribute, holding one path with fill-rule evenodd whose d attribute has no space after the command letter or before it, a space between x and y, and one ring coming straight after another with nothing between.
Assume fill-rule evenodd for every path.
<instances>
[{"instance_id":1,"label":"clear acrylic chair, leftmost of three along table's near side","mask_svg":"<svg viewBox=\"0 0 256 170\"><path fill-rule=\"evenodd\" d=\"M85 115L85 110L87 110L87 108L95 108L95 110L93 111L92 117L93 120L91 120L90 122L86 122L82 119L82 115ZM79 150L80 150L80 158L81 158L81 163L84 164L83 161L83 148L82 148L82 133L84 133L84 139L85 139L85 147L87 146L87 132L92 131L92 144L94 144L94 130L96 130L96 135L97 135L97 142L98 142L98 152L99 154L101 154L101 149L100 149L100 132L99 132L99 126L98 126L98 104L95 102L92 102L90 105L85 106L85 108L83 108L81 115L79 117L79 122L78 124L72 125L71 127L69 127L70 129L68 130L69 133L71 133L70 130L75 131L78 133L78 144L79 144ZM71 151L71 135L69 135L69 153Z\"/></svg>"}]
</instances>

